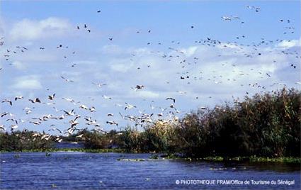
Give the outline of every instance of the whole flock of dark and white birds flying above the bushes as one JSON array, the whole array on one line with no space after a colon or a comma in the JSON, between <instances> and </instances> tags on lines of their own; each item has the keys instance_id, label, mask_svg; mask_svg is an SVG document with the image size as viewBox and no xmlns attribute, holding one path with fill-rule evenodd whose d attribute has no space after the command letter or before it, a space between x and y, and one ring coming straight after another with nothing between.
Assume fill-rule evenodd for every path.
<instances>
[{"instance_id":1,"label":"whole flock of dark and white birds flying above the bushes","mask_svg":"<svg viewBox=\"0 0 301 190\"><path fill-rule=\"evenodd\" d=\"M255 6L246 6L246 9L255 11L256 13L259 13L261 9L259 7ZM96 11L97 13L101 13L101 11ZM222 16L222 20L224 21L234 21L234 20L239 20L241 19L239 16ZM289 19L281 19L279 21L280 23L286 22L290 24ZM241 23L244 23L242 21ZM190 29L194 30L195 26L191 26ZM295 28L293 26L285 26L285 33L294 33ZM76 26L77 30L86 30L86 32L91 33L91 28L87 24L84 24L83 26ZM151 33L152 30L147 30L147 33ZM138 30L137 33L140 33ZM240 38L246 38L245 35L240 35L237 36L237 40ZM0 39L0 45L4 47L5 44L5 38ZM109 42L113 41L113 37L108 37ZM227 47L237 47L237 50L235 50L234 53L239 54L239 55L244 55L245 57L249 57L250 59L252 57L257 57L261 56L261 47L263 45L273 45L275 43L281 43L283 40L277 39L277 40L266 40L264 38L261 38L261 40L258 43L251 43L248 45L242 44L242 43L237 43L236 41L234 42L222 42L220 40L215 40L212 38L206 38L203 40L195 40L194 43L198 45L204 45L207 47L222 47L222 48L227 48ZM150 45L151 43L147 43L147 45ZM158 45L161 45L162 43L158 43ZM180 42L176 41L171 41L171 44L173 45L178 45ZM57 45L57 49L59 48L68 48L68 46L64 45ZM246 50L246 48L251 49ZM4 54L4 60L8 63L8 65L11 64L11 57L13 57L14 54L18 53L25 53L28 50L28 47L25 46L16 46L14 48L7 49L5 54ZM45 47L40 47L40 50L45 50ZM169 53L168 53L169 52ZM178 65L181 65L181 69L183 71L177 72L175 80L180 80L181 82L186 82L187 85L191 84L193 81L198 81L204 79L203 77L200 76L191 76L191 73L186 69L187 67L193 67L193 65L198 64L198 60L201 57L193 57L192 60L188 60L185 57L185 53L181 51L180 49L176 47L169 47L168 52L161 52L161 51L152 51L155 55L159 55L159 57L164 58L167 62L177 62ZM76 52L72 52L72 54L75 54ZM294 63L289 63L288 65L292 69L297 69L298 67L298 62L300 62L300 55L299 52L297 51L290 51L290 50L282 50L279 52L281 55L287 55L287 56L292 56L295 58L296 62ZM136 56L136 53L132 53L132 58ZM222 55L219 55L222 56ZM64 56L64 59L67 59L67 56ZM277 60L274 60L273 62L277 62ZM229 66L235 68L237 65L227 65L227 63L223 63L221 66ZM76 64L72 64L71 67L76 67ZM147 68L151 69L152 65L149 64L147 65ZM141 67L137 67L137 72L142 69ZM254 69L251 69L254 71ZM5 72L3 68L0 68L0 74L1 72ZM261 71L254 71L256 74L260 74L261 78L270 78L271 74L266 72L263 73ZM203 72L200 72L200 75L202 76ZM239 75L241 76L246 76L248 77L249 73L239 71ZM214 84L221 84L223 81L225 81L225 77L222 75L215 75L215 71L212 71L212 77L208 78L207 80L210 82L213 82ZM76 80L74 79L68 79L65 76L60 76L60 79L64 80L66 83L76 83ZM236 79L227 79L228 82L235 82ZM300 82L298 82L299 84ZM96 88L106 88L108 84L101 83L101 82L91 82L91 84L95 85ZM169 82L166 82L166 85L169 84ZM279 82L279 84L281 84ZM259 89L259 91L265 91L267 86L263 86L259 83L254 83L254 84L241 84L241 86L244 85L249 85L252 88ZM276 85L276 83L271 84L271 86ZM143 84L135 84L131 88L134 91L143 91L144 88ZM50 91L47 89L47 91ZM186 91L177 91L178 94L185 95L187 94ZM47 92L48 93L48 92ZM249 92L246 92L246 94L249 94ZM112 101L112 97L102 95L103 99L106 101ZM209 96L208 98L211 98ZM56 100L62 100L62 101L67 101L72 105L72 108L69 108L69 110L66 109L59 109L56 104ZM72 135L76 131L81 131L87 128L92 128L91 130L96 131L98 133L106 133L106 130L103 129L103 125L118 125L118 120L116 117L121 118L125 121L134 123L135 126L144 126L144 125L150 125L154 122L159 122L159 123L171 123L174 121L178 121L177 114L181 113L181 111L176 108L176 99L174 97L165 97L165 101L169 104L169 106L165 107L160 107L160 106L154 106L154 101L151 102L150 104L150 110L152 113L146 113L146 111L140 111L140 108L136 105L132 105L128 102L125 102L124 104L115 104L115 106L122 107L122 111L119 112L119 116L114 116L113 113L107 113L106 115L106 122L105 123L99 123L95 118L92 118L90 114L97 112L96 106L86 106L85 104L82 104L81 101L76 101L74 99L66 98L66 97L57 97L56 93L49 93L47 97L36 97L34 99L26 99L24 96L15 96L11 99L2 99L1 104L8 104L8 107L14 106L16 104L16 101L28 101L30 106L23 108L23 112L25 116L28 116L27 120L22 120L16 118L14 113L11 113L9 111L1 111L1 123L0 123L0 130L5 131L6 128L8 128L7 131L11 131L13 133L15 130L18 130L18 125L48 125L49 127L47 128L48 132L52 131L52 134L47 133L43 131L42 133L36 132L33 134L34 137L40 137L45 140L49 140L50 138L55 138L57 142L62 142L62 138L60 138L62 135ZM198 99L198 96L195 96L195 99ZM40 117L30 117L30 115L34 112L36 106L41 106L45 104L46 106L50 106L55 110L55 114L45 114ZM218 108L218 107L216 107ZM139 114L137 115L130 115L126 114L127 111L135 109L138 111ZM206 109L205 107L201 107L201 109ZM79 114L79 110L81 113L84 114ZM159 110L159 111L158 111ZM155 112L157 111L157 113ZM124 112L124 113L122 113ZM47 124L46 122L50 122L51 124ZM61 122L61 124L57 124ZM5 124L4 124L5 123ZM57 127L57 125L64 125L64 124L69 125L69 127L65 130L62 130L61 126ZM26 129L25 129L26 130ZM77 138L84 138L82 135L77 136Z\"/></svg>"}]
</instances>

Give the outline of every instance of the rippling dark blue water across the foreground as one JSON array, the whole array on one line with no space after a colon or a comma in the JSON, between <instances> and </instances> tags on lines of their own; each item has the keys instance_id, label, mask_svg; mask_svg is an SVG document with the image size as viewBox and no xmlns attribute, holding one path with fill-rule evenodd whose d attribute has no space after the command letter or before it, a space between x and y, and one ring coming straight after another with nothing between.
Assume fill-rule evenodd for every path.
<instances>
[{"instance_id":1,"label":"rippling dark blue water across the foreground","mask_svg":"<svg viewBox=\"0 0 301 190\"><path fill-rule=\"evenodd\" d=\"M300 189L300 165L149 160L149 154L51 152L46 157L45 152L23 152L18 158L14 155L0 154L0 189ZM118 161L120 157L146 160ZM219 179L249 180L250 184L181 181L188 179L210 179L215 183ZM252 185L251 179L275 180L276 184ZM295 184L277 184L278 179L295 180Z\"/></svg>"}]
</instances>

